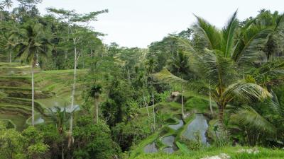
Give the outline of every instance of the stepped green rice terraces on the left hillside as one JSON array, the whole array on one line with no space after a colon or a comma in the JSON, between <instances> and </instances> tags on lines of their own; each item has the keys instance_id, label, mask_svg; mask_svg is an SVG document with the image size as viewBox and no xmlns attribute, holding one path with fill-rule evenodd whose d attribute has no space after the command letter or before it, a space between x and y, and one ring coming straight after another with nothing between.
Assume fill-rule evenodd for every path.
<instances>
[{"instance_id":1,"label":"stepped green rice terraces on the left hillside","mask_svg":"<svg viewBox=\"0 0 284 159\"><path fill-rule=\"evenodd\" d=\"M18 63L0 63L0 119L9 120L21 130L30 124L31 117L31 67ZM80 78L86 70L77 71L75 104L82 98ZM35 69L35 123L48 121L47 108L70 105L72 70L41 71Z\"/></svg>"}]
</instances>

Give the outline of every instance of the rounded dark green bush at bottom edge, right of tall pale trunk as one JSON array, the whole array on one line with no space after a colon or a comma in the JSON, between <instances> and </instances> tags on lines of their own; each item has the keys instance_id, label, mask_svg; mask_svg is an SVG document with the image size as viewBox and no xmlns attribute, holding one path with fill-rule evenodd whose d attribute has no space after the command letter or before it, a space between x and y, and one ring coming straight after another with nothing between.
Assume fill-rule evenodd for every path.
<instances>
[{"instance_id":1,"label":"rounded dark green bush at bottom edge, right of tall pale trunk","mask_svg":"<svg viewBox=\"0 0 284 159\"><path fill-rule=\"evenodd\" d=\"M120 148L112 141L109 126L92 124L92 117L82 116L73 131L75 158L117 158Z\"/></svg>"}]
</instances>

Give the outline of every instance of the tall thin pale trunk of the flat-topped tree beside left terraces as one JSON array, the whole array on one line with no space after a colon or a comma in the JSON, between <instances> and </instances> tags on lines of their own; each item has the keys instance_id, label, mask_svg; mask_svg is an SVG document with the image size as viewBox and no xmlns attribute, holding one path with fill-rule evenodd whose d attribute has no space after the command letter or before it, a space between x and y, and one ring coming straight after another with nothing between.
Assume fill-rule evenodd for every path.
<instances>
[{"instance_id":1,"label":"tall thin pale trunk of the flat-topped tree beside left terraces","mask_svg":"<svg viewBox=\"0 0 284 159\"><path fill-rule=\"evenodd\" d=\"M76 45L76 44L75 44ZM72 111L74 108L74 96L75 96L75 86L76 86L76 73L77 73L77 48L74 47L74 76L73 76L73 86L72 86L72 95L71 95L71 107L70 110ZM71 112L70 117L70 138L72 137L72 129L73 129L73 113ZM68 141L68 147L70 147L71 139Z\"/></svg>"}]
</instances>

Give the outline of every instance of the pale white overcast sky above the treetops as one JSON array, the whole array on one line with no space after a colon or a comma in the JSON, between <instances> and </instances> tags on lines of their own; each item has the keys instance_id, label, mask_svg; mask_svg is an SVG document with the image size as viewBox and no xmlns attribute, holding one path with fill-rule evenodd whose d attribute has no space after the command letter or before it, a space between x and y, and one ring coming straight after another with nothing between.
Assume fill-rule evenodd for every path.
<instances>
[{"instance_id":1,"label":"pale white overcast sky above the treetops","mask_svg":"<svg viewBox=\"0 0 284 159\"><path fill-rule=\"evenodd\" d=\"M168 33L179 33L195 23L193 14L222 28L236 9L240 20L256 16L262 8L284 11L283 0L43 0L40 13L50 6L78 13L109 9L91 25L107 34L102 37L105 43L124 47L147 47Z\"/></svg>"}]
</instances>

